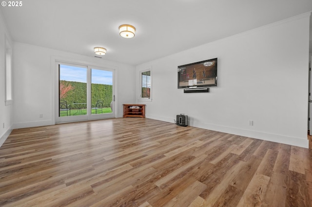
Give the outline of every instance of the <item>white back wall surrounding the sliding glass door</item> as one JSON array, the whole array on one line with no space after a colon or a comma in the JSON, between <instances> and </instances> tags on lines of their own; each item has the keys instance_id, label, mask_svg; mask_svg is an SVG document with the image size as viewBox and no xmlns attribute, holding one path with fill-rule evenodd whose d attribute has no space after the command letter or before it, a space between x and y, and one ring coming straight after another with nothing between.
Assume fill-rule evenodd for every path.
<instances>
[{"instance_id":1,"label":"white back wall surrounding the sliding glass door","mask_svg":"<svg viewBox=\"0 0 312 207\"><path fill-rule=\"evenodd\" d=\"M13 55L18 57L13 61L14 128L55 123L55 59L115 69L117 117L122 117L122 104L135 102L135 83L129 81L135 79L134 66L19 42L14 43Z\"/></svg>"}]
</instances>

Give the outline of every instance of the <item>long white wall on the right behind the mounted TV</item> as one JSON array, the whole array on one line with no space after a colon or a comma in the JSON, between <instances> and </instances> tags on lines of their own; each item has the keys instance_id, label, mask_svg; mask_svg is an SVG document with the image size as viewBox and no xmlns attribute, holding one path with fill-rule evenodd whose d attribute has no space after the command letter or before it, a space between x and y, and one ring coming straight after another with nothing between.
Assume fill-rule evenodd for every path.
<instances>
[{"instance_id":1,"label":"long white wall on the right behind the mounted TV","mask_svg":"<svg viewBox=\"0 0 312 207\"><path fill-rule=\"evenodd\" d=\"M309 19L299 15L137 66L137 83L152 66L152 102L139 102L146 117L173 122L185 113L192 126L308 147ZM216 57L218 86L210 93L177 89L177 66Z\"/></svg>"}]
</instances>

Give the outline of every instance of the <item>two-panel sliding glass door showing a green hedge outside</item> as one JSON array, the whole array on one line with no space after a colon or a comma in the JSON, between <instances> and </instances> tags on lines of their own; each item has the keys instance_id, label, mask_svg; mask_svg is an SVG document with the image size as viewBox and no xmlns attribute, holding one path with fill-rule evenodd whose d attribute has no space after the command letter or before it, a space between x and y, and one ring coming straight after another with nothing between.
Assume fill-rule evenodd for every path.
<instances>
[{"instance_id":1,"label":"two-panel sliding glass door showing a green hedge outside","mask_svg":"<svg viewBox=\"0 0 312 207\"><path fill-rule=\"evenodd\" d=\"M56 122L115 117L114 71L58 63Z\"/></svg>"}]
</instances>

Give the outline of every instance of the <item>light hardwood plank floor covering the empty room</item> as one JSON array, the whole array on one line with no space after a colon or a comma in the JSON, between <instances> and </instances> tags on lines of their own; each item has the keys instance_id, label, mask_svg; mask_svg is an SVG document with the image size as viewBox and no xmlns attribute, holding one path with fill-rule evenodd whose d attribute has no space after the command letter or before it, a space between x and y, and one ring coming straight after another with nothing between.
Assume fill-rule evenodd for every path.
<instances>
[{"instance_id":1,"label":"light hardwood plank floor covering the empty room","mask_svg":"<svg viewBox=\"0 0 312 207\"><path fill-rule=\"evenodd\" d=\"M311 207L312 150L144 118L13 130L0 206Z\"/></svg>"}]
</instances>

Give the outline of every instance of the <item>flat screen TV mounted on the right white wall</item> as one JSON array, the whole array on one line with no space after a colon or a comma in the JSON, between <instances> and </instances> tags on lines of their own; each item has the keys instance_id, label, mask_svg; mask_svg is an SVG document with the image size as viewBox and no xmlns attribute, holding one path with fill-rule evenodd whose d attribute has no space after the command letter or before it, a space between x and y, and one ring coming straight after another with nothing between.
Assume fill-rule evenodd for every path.
<instances>
[{"instance_id":1,"label":"flat screen TV mounted on the right white wall","mask_svg":"<svg viewBox=\"0 0 312 207\"><path fill-rule=\"evenodd\" d=\"M177 87L217 86L217 58L177 67Z\"/></svg>"}]
</instances>

